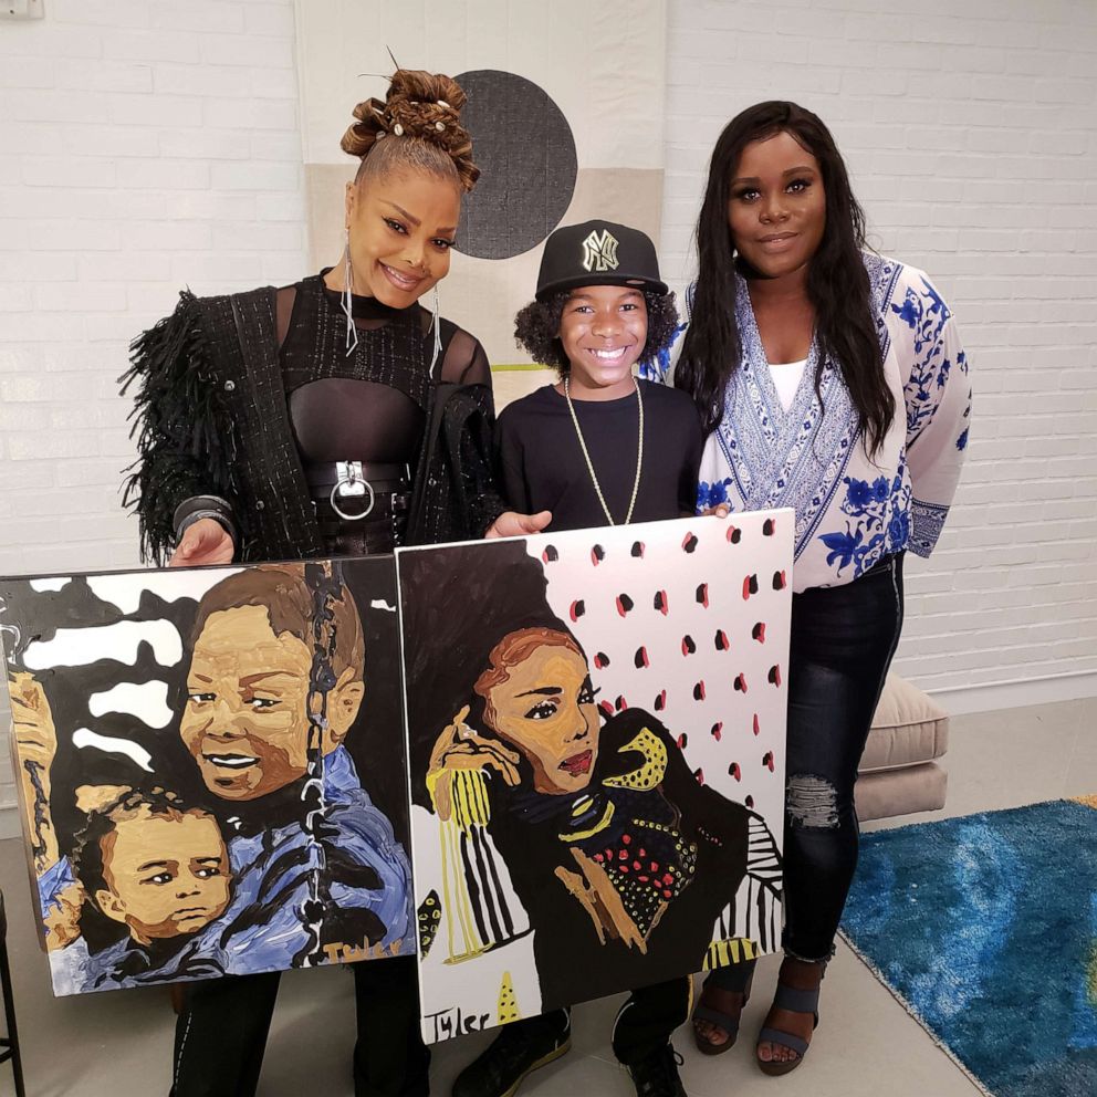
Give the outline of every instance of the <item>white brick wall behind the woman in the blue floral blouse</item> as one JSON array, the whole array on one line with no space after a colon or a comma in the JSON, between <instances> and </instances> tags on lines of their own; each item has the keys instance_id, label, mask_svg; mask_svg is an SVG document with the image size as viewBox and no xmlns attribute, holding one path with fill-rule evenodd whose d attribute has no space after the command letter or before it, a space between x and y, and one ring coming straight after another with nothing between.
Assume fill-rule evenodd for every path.
<instances>
[{"instance_id":1,"label":"white brick wall behind the woman in the blue floral blouse","mask_svg":"<svg viewBox=\"0 0 1097 1097\"><path fill-rule=\"evenodd\" d=\"M940 547L908 561L897 669L1097 691L1097 6L672 0L668 48L677 289L721 128L787 98L834 132L874 244L958 316L971 449Z\"/></svg>"}]
</instances>

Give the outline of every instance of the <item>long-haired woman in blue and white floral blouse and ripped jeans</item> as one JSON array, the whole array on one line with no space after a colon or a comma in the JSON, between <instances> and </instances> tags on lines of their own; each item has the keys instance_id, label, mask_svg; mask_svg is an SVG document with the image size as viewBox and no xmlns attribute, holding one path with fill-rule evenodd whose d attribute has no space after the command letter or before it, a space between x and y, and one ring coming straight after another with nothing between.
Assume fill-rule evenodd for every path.
<instances>
[{"instance_id":1,"label":"long-haired woman in blue and white floral blouse and ripped jeans","mask_svg":"<svg viewBox=\"0 0 1097 1097\"><path fill-rule=\"evenodd\" d=\"M902 626L902 558L928 556L968 446L968 359L919 270L868 252L826 126L794 103L733 118L712 154L676 370L710 431L700 508L796 512L784 961L758 1043L800 1065L857 863L854 782ZM746 967L713 972L693 1024L734 1043Z\"/></svg>"}]
</instances>

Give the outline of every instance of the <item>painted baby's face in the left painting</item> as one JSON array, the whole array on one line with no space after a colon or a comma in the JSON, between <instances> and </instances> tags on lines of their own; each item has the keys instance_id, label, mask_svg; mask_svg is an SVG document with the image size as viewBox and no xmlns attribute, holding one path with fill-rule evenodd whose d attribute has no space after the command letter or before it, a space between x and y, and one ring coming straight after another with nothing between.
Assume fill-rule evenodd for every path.
<instances>
[{"instance_id":1,"label":"painted baby's face in the left painting","mask_svg":"<svg viewBox=\"0 0 1097 1097\"><path fill-rule=\"evenodd\" d=\"M102 843L107 890L96 902L145 944L196 933L229 905L229 854L211 815L142 805Z\"/></svg>"}]
</instances>

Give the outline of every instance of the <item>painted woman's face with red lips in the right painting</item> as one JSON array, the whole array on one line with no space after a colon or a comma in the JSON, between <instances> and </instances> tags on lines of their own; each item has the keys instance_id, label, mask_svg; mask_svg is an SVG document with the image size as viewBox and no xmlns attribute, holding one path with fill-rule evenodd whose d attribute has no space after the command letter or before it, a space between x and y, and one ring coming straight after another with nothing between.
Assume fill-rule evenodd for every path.
<instances>
[{"instance_id":1,"label":"painted woman's face with red lips in the right painting","mask_svg":"<svg viewBox=\"0 0 1097 1097\"><path fill-rule=\"evenodd\" d=\"M557 645L534 648L489 700L495 732L529 760L537 792L581 792L591 783L600 725L581 655Z\"/></svg>"}]
</instances>

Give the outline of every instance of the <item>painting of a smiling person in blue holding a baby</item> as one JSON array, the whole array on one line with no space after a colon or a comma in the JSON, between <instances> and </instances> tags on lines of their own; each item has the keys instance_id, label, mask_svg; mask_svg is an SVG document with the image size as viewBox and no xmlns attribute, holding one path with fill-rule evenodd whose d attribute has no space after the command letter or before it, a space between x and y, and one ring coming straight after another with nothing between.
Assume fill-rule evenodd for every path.
<instances>
[{"instance_id":1,"label":"painting of a smiling person in blue holding a baby","mask_svg":"<svg viewBox=\"0 0 1097 1097\"><path fill-rule=\"evenodd\" d=\"M414 950L391 557L0 581L56 994Z\"/></svg>"}]
</instances>

